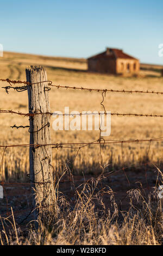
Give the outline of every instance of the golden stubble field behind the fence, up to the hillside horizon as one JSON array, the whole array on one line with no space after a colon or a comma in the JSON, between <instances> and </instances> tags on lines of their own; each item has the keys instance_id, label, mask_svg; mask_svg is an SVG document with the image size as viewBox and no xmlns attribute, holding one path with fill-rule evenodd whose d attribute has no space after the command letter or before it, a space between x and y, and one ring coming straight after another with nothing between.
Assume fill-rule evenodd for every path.
<instances>
[{"instance_id":1,"label":"golden stubble field behind the fence, up to the hillside horizon","mask_svg":"<svg viewBox=\"0 0 163 256\"><path fill-rule=\"evenodd\" d=\"M129 89L155 90L163 92L163 78L158 72L140 71L139 77L118 77L113 75L89 74L84 59L51 58L20 53L4 53L0 62L0 77L12 80L26 80L25 69L29 65L43 65L47 69L48 80L53 84L100 88L100 89ZM0 86L7 83L1 82ZM78 90L65 90L52 87L49 92L52 111L64 111L65 106L70 111L103 110L100 105L101 93ZM163 114L162 95L106 93L104 106L112 113ZM1 89L1 109L28 112L28 95L25 92L10 90L9 94ZM29 143L27 129L12 129L16 124L28 125L26 117L14 114L1 114L0 144ZM163 118L152 117L111 117L111 135L105 139L127 140L158 138L162 136ZM99 131L54 131L51 130L52 143L92 142L99 138ZM163 142L152 142L148 158L150 161L161 161ZM124 165L140 164L145 160L149 143L123 144ZM16 178L29 172L28 148L8 148L4 155L3 168L7 177ZM2 155L2 150L1 150ZM73 162L76 150L53 149L53 166L59 172L65 168L65 162ZM111 164L109 169L122 167L121 144L105 145L102 149L103 160ZM99 145L86 147L79 151L74 173L99 172ZM16 178L17 179L17 178Z\"/></svg>"}]
</instances>

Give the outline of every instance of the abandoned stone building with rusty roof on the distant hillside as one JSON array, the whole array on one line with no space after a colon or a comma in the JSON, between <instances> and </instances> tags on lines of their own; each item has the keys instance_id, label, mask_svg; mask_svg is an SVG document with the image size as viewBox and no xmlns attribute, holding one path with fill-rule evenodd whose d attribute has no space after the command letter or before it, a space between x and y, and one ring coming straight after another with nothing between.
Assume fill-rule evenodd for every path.
<instances>
[{"instance_id":1,"label":"abandoned stone building with rusty roof on the distant hillside","mask_svg":"<svg viewBox=\"0 0 163 256\"><path fill-rule=\"evenodd\" d=\"M140 70L139 59L129 56L120 49L106 48L87 59L88 71L108 74L137 74Z\"/></svg>"}]
</instances>

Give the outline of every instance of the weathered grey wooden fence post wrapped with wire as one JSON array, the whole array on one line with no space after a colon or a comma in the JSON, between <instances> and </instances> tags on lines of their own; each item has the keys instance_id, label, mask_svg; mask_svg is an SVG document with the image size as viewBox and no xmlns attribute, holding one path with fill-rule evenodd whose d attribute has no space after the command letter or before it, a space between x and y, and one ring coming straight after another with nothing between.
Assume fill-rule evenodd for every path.
<instances>
[{"instance_id":1,"label":"weathered grey wooden fence post wrapped with wire","mask_svg":"<svg viewBox=\"0 0 163 256\"><path fill-rule=\"evenodd\" d=\"M30 66L26 69L27 82L32 83L28 87L30 117L30 144L38 145L30 147L30 180L35 191L35 206L44 211L51 211L56 204L54 182L52 148L50 133L50 114L48 82L46 70L42 66ZM35 84L34 84L35 83ZM44 114L43 114L44 113Z\"/></svg>"}]
</instances>

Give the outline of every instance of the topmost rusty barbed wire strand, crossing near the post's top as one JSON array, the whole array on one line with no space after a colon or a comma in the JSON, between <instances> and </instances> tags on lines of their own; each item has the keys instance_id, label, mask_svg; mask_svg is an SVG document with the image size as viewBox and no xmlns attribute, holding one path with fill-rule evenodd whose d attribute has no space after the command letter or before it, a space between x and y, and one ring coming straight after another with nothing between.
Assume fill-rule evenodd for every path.
<instances>
[{"instance_id":1,"label":"topmost rusty barbed wire strand, crossing near the post's top","mask_svg":"<svg viewBox=\"0 0 163 256\"><path fill-rule=\"evenodd\" d=\"M113 93L143 93L143 94L146 94L146 93L149 93L149 94L160 94L160 95L163 95L163 92L155 92L154 90L152 91L149 91L149 90L118 90L118 89L95 89L95 88L85 88L85 87L76 87L76 86L60 86L60 85L56 85L56 84L52 84L53 82L52 81L40 81L40 82L36 82L36 83L29 83L27 81L16 81L16 80L10 80L10 79L0 79L0 81L2 82L8 82L10 84L10 86L7 86L7 87L2 87L4 88L5 90L8 90L9 89L14 89L14 90L17 90L17 92L21 92L22 90L27 90L26 87L23 88L22 87L13 87L12 84L24 84L26 85L27 87L28 86L31 86L33 84L39 84L39 83L43 83L43 82L48 82L48 86L51 86L51 87L56 87L56 88L64 88L64 89L74 89L74 90L87 90L89 92L113 92ZM49 90L49 88L48 88Z\"/></svg>"}]
</instances>

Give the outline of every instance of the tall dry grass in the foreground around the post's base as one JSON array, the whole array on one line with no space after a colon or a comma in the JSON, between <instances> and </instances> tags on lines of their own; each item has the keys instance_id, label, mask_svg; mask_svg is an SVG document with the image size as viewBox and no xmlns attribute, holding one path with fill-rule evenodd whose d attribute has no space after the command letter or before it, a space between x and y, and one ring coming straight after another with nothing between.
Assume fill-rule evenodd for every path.
<instances>
[{"instance_id":1,"label":"tall dry grass in the foreground around the post's base","mask_svg":"<svg viewBox=\"0 0 163 256\"><path fill-rule=\"evenodd\" d=\"M30 222L26 230L16 228L15 218L1 218L1 245L161 245L163 215L161 200L142 189L128 191L130 208L118 210L111 188L97 190L99 180L76 190L76 200L60 194L58 215L48 212L37 228ZM106 209L103 194L110 206ZM40 216L41 216L40 212ZM10 230L10 231L9 231Z\"/></svg>"}]
</instances>

